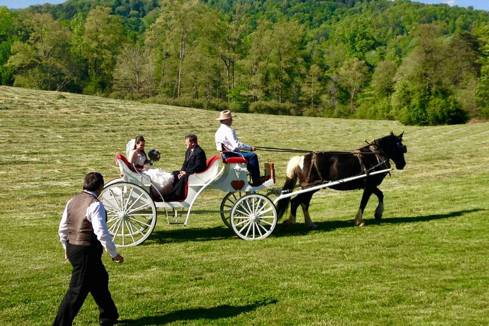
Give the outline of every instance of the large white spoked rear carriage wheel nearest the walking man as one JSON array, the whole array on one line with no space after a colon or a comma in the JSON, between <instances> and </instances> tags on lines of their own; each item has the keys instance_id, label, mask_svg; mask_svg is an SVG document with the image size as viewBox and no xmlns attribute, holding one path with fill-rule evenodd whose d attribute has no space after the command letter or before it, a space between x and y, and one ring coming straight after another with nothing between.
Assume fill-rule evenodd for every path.
<instances>
[{"instance_id":1,"label":"large white spoked rear carriage wheel nearest the walking man","mask_svg":"<svg viewBox=\"0 0 489 326\"><path fill-rule=\"evenodd\" d=\"M137 246L156 225L156 206L142 187L118 182L103 188L99 197L107 211L107 228L116 247Z\"/></svg>"}]
</instances>

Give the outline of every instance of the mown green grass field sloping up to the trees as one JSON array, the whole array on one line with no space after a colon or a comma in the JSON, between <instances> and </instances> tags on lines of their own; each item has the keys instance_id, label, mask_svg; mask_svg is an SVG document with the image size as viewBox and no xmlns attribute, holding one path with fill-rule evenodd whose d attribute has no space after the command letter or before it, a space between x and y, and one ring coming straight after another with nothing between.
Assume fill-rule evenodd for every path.
<instances>
[{"instance_id":1,"label":"mown green grass field sloping up to the trees","mask_svg":"<svg viewBox=\"0 0 489 326\"><path fill-rule=\"evenodd\" d=\"M70 265L57 235L66 201L84 175L117 177L114 154L144 134L156 167L179 169L184 134L214 154L215 112L68 93L0 87L0 324L48 325ZM122 265L103 260L127 325L489 324L489 123L405 127L394 121L238 114L235 129L256 146L349 150L365 138L404 132L407 165L372 197L366 226L352 226L361 193L324 190L310 212L318 229L278 225L243 241L216 214L187 227L160 218ZM248 126L248 127L247 127ZM277 187L290 153L275 161ZM216 209L207 192L196 209ZM96 325L89 296L75 325Z\"/></svg>"}]
</instances>

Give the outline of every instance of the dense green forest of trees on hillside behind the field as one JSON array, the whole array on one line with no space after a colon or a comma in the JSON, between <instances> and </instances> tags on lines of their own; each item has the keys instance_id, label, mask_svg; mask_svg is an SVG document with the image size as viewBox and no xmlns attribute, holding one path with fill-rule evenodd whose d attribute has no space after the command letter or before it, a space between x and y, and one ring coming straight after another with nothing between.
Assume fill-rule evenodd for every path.
<instances>
[{"instance_id":1,"label":"dense green forest of trees on hillside behind the field","mask_svg":"<svg viewBox=\"0 0 489 326\"><path fill-rule=\"evenodd\" d=\"M241 112L489 118L489 13L407 0L0 7L0 85Z\"/></svg>"}]
</instances>

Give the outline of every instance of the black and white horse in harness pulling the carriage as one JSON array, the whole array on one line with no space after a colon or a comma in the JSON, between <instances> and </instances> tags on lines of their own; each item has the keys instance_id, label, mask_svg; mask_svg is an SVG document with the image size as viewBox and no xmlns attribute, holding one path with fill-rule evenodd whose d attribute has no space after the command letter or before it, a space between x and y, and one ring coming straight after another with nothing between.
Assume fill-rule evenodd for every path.
<instances>
[{"instance_id":1,"label":"black and white horse in harness pulling the carriage","mask_svg":"<svg viewBox=\"0 0 489 326\"><path fill-rule=\"evenodd\" d=\"M386 137L376 139L372 143L351 152L314 152L304 156L294 156L287 165L287 178L283 190L292 190L297 181L303 187L307 187L388 169L390 168L389 160L394 161L396 169L402 170L406 165L404 160L404 153L406 152L407 148L402 144L402 133L396 136L391 132ZM387 173L381 173L331 186L336 190L364 189L360 208L355 218L355 225L364 225L363 211L372 194L378 198L378 205L374 214L375 219L382 218L384 194L377 186L382 183L386 175ZM309 215L309 203L316 191L302 193L292 199L287 198L279 201L277 204L279 219L287 211L290 201L290 216L288 220L284 221L284 224L295 223L297 208L301 205L306 227L315 229L317 226L312 223Z\"/></svg>"}]
</instances>

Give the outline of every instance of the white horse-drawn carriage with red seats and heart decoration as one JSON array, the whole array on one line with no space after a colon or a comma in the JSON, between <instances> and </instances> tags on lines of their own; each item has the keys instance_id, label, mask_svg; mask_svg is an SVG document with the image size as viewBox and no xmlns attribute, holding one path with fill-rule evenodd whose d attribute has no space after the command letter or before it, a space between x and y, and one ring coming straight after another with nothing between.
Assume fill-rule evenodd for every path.
<instances>
[{"instance_id":1,"label":"white horse-drawn carriage with red seats and heart decoration","mask_svg":"<svg viewBox=\"0 0 489 326\"><path fill-rule=\"evenodd\" d=\"M151 183L121 155L116 154L121 178L107 182L99 199L107 211L107 227L118 247L137 246L145 241L156 225L158 213L165 212L169 225L184 225L192 213L220 213L224 223L245 240L266 238L277 224L275 204L257 192L275 183L273 164L270 178L252 186L247 179L247 161L242 157L228 158L220 168L222 158L207 159L204 172L188 176L184 200L165 202ZM220 210L192 210L205 189L227 192ZM185 220L183 221L183 217Z\"/></svg>"}]
</instances>

